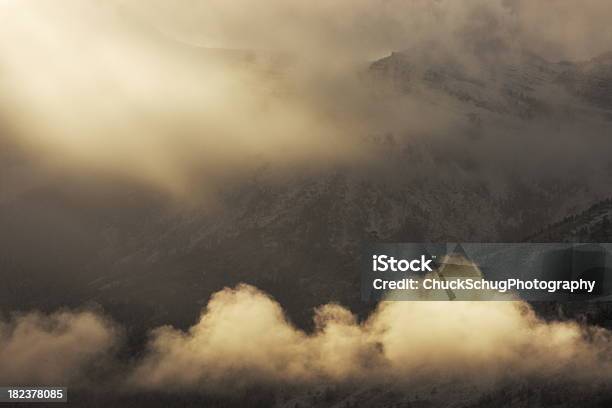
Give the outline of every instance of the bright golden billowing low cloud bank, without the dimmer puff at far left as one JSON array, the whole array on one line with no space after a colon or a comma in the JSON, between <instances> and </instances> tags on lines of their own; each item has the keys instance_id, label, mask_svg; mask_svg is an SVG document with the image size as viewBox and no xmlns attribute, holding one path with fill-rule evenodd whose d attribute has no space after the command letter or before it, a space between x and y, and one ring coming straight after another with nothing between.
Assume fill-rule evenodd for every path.
<instances>
[{"instance_id":1,"label":"bright golden billowing low cloud bank, without the dimmer puff at far left","mask_svg":"<svg viewBox=\"0 0 612 408\"><path fill-rule=\"evenodd\" d=\"M600 356L610 333L574 322L547 323L522 302L383 302L364 322L330 304L316 329L292 326L281 306L254 287L216 293L187 332L152 333L131 376L145 389L228 391L320 381L487 387L514 375L606 381Z\"/></svg>"}]
</instances>

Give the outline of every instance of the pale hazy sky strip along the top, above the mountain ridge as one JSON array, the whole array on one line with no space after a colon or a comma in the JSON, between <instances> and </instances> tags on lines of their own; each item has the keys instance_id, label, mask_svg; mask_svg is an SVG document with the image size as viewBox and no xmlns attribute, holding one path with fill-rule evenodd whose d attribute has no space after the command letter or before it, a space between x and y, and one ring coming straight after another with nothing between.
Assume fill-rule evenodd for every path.
<instances>
[{"instance_id":1,"label":"pale hazy sky strip along the top, above the mountain ridge","mask_svg":"<svg viewBox=\"0 0 612 408\"><path fill-rule=\"evenodd\" d=\"M204 46L373 58L419 44L515 44L546 57L610 51L605 0L117 0L161 31Z\"/></svg>"}]
</instances>

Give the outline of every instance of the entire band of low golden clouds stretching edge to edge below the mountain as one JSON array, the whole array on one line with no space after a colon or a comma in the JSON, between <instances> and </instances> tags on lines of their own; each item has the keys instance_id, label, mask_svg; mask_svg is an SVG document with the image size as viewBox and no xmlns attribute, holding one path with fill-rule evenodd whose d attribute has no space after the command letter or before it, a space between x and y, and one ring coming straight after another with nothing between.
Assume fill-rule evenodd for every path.
<instances>
[{"instance_id":1,"label":"entire band of low golden clouds stretching edge to edge below the mountain","mask_svg":"<svg viewBox=\"0 0 612 408\"><path fill-rule=\"evenodd\" d=\"M327 304L314 322L311 333L296 328L279 303L242 284L215 293L187 331L152 330L142 356L126 364L116 354L120 330L95 312L14 315L0 323L0 382L231 393L321 383L450 381L486 390L525 376L612 379L609 331L543 321L520 301L382 302L362 322Z\"/></svg>"}]
</instances>

